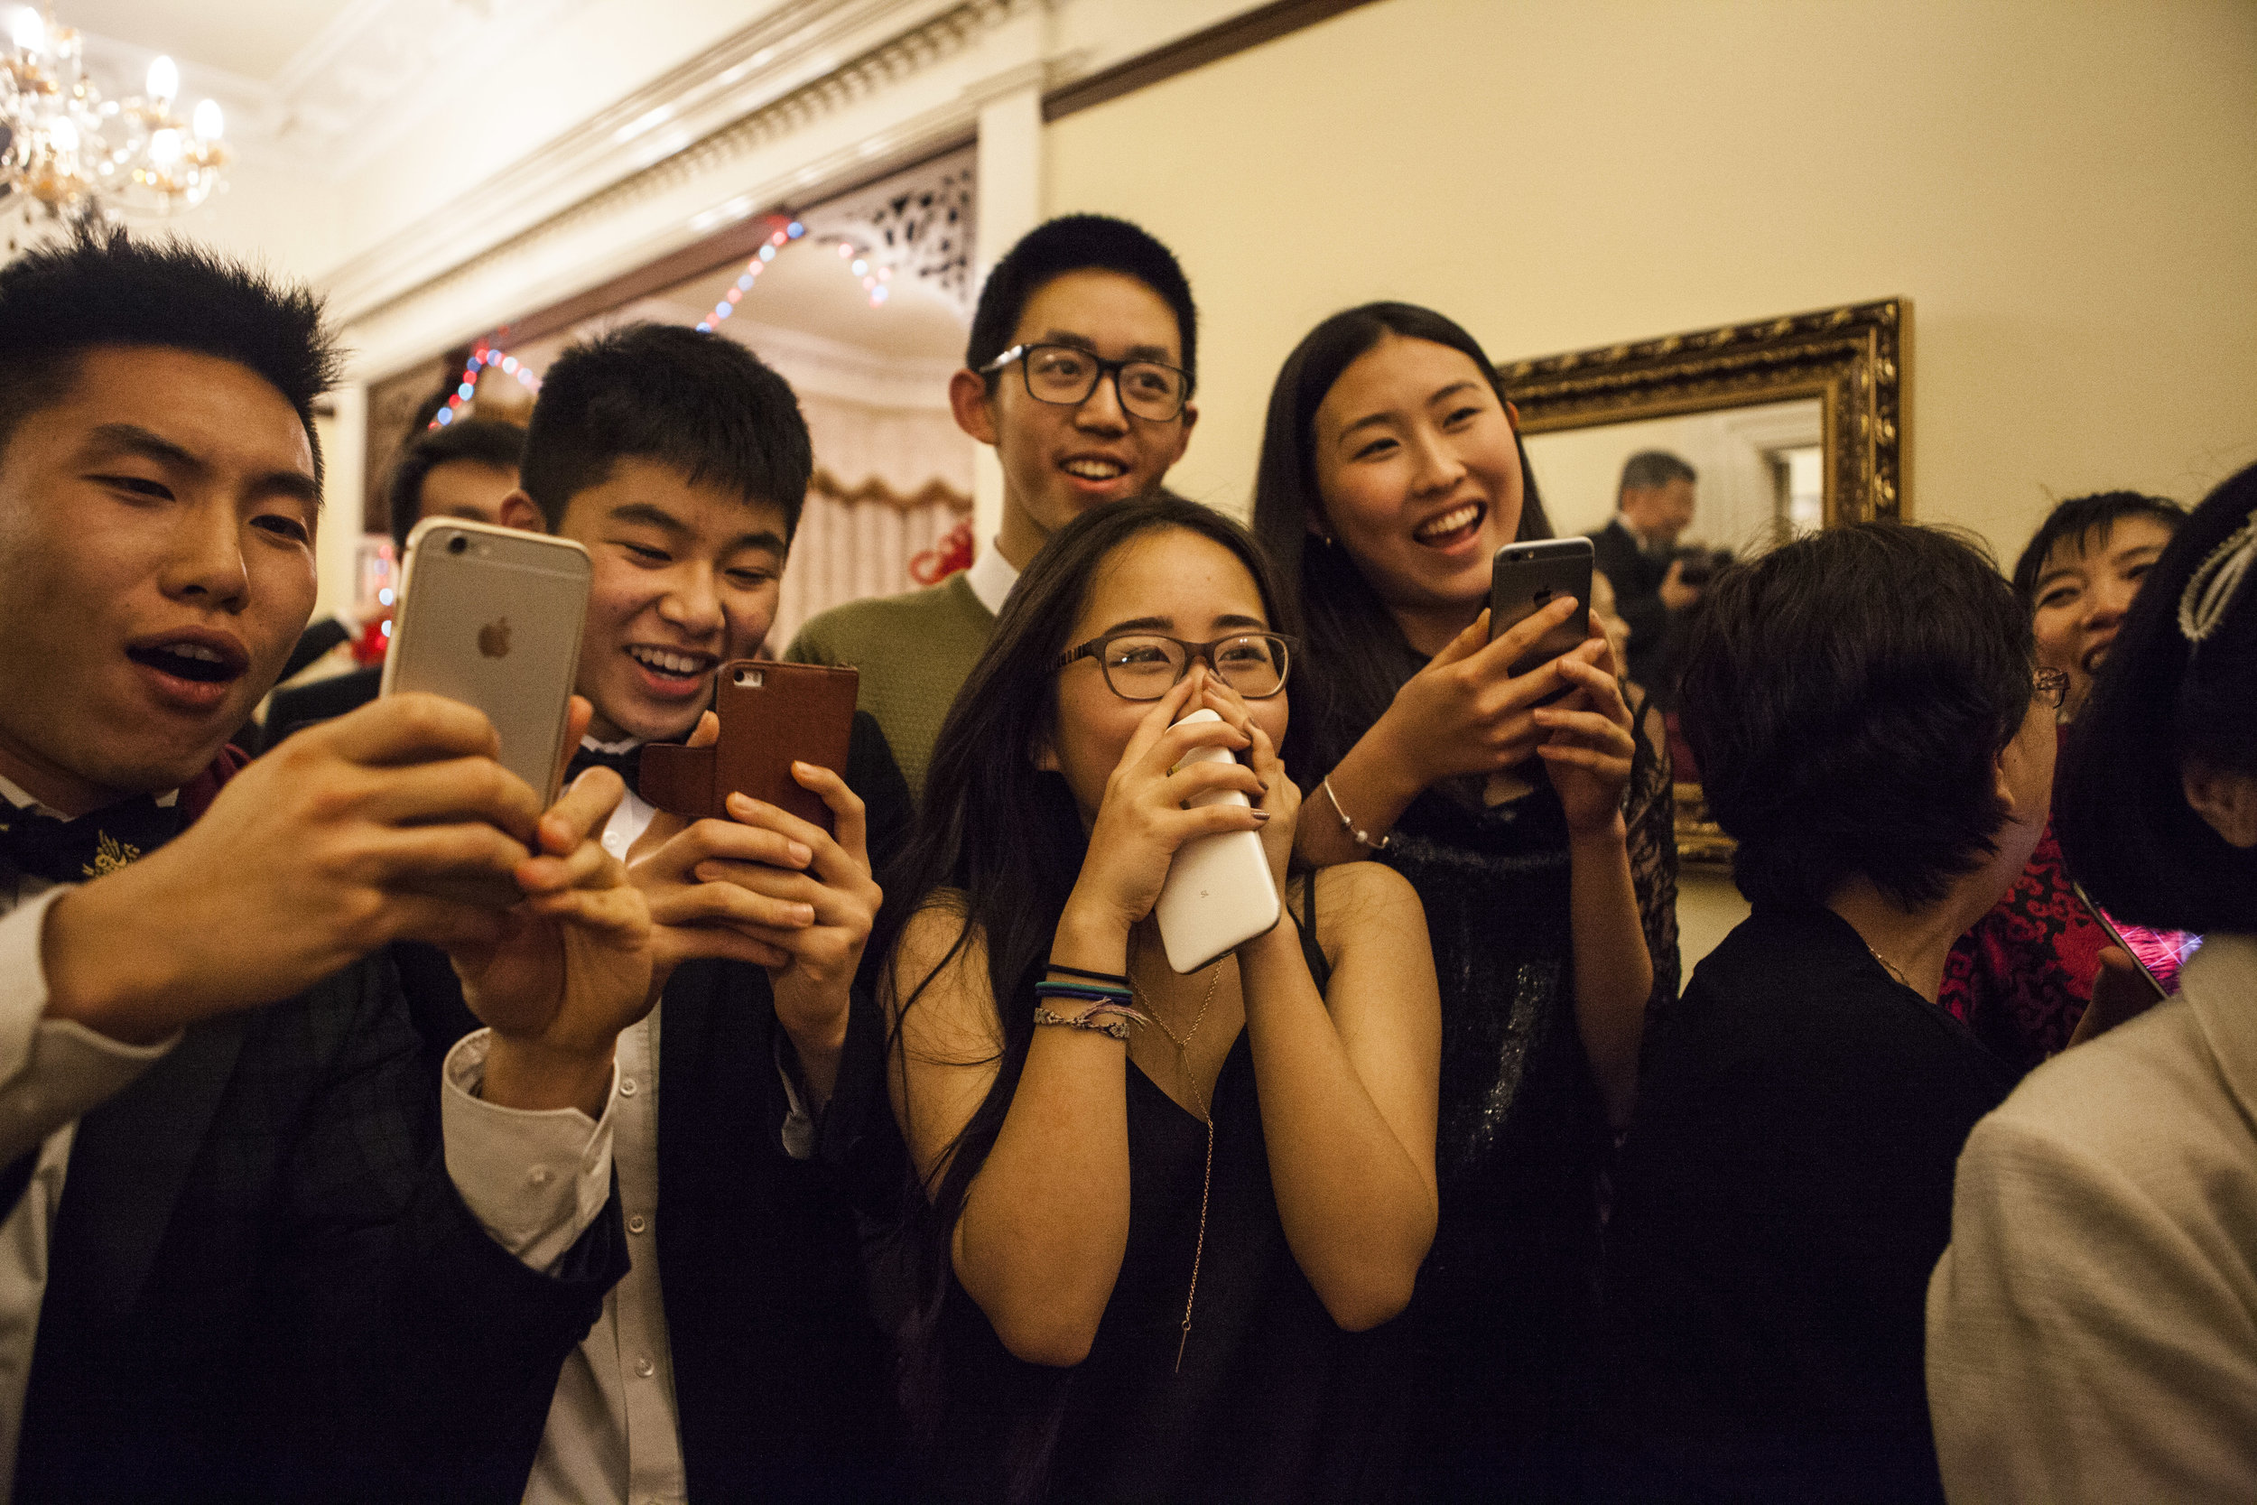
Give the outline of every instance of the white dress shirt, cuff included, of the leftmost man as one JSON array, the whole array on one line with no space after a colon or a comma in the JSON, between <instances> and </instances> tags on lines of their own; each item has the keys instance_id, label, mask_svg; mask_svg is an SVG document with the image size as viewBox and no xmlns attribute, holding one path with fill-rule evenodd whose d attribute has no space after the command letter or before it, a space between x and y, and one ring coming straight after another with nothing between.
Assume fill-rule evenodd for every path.
<instances>
[{"instance_id":1,"label":"white dress shirt, cuff included, of the leftmost man","mask_svg":"<svg viewBox=\"0 0 2257 1505\"><path fill-rule=\"evenodd\" d=\"M163 794L158 803L169 806L176 794ZM47 810L7 778L0 778L0 796L18 810L29 808L36 815L61 817L59 810ZM70 1144L79 1115L124 1092L181 1040L176 1033L149 1047L124 1045L72 1020L45 1018L47 970L41 957L41 936L47 905L70 887L0 866L0 1164L38 1146L38 1167L23 1200L0 1221L0 1505L7 1505L16 1489L16 1444L32 1383L38 1311L47 1295L47 1243L54 1236L54 1216L63 1205L63 1176L70 1169ZM483 1063L483 1051L478 1060ZM555 1115L521 1117L546 1119ZM587 1124L587 1115L571 1112L571 1117ZM512 1146L506 1142L476 1144L485 1128L483 1121L445 1119L447 1171L463 1200L492 1230L497 1218L490 1212L524 1203L519 1182L526 1178L526 1160L512 1155ZM555 1264L587 1232L609 1196L607 1126L585 1139L587 1153L600 1151L603 1158L603 1196L596 1198L594 1207L585 1203L560 1207L548 1200L537 1214L548 1218L546 1223L521 1223L526 1246L535 1250L535 1257L526 1257L526 1250L517 1246L512 1252L526 1257L526 1264L535 1268ZM465 1178L465 1164L474 1164L476 1173ZM533 1176L539 1173L542 1169L535 1167ZM510 1241L503 1239L503 1243ZM546 1257L537 1257L542 1252Z\"/></svg>"}]
</instances>

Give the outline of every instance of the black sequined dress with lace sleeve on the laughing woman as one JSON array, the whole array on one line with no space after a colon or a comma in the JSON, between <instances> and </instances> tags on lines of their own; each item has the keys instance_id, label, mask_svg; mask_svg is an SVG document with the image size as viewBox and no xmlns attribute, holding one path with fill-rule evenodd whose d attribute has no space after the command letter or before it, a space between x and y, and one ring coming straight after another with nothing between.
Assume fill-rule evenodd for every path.
<instances>
[{"instance_id":1,"label":"black sequined dress with lace sleeve on the laughing woman","mask_svg":"<svg viewBox=\"0 0 2257 1505\"><path fill-rule=\"evenodd\" d=\"M1677 839L1645 738L1623 812L1652 1018L1677 997ZM1566 815L1542 769L1487 808L1429 790L1381 860L1426 905L1442 991L1442 1218L1404 1318L1413 1455L1431 1471L1415 1498L1546 1498L1593 1345L1614 1142L1575 1029Z\"/></svg>"}]
</instances>

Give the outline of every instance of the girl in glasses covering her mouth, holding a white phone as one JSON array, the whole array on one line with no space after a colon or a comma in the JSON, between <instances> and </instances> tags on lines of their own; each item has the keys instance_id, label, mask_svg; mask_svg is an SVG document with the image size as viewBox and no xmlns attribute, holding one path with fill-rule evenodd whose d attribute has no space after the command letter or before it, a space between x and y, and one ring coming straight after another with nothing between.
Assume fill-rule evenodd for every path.
<instances>
[{"instance_id":1,"label":"girl in glasses covering her mouth, holding a white phone","mask_svg":"<svg viewBox=\"0 0 2257 1505\"><path fill-rule=\"evenodd\" d=\"M1402 878L1286 875L1277 625L1237 523L1115 503L1034 560L941 729L873 936L925 1198L928 1498L1386 1485L1384 1324L1435 1225L1435 982ZM1153 903L1232 830L1284 918L1176 975Z\"/></svg>"}]
</instances>

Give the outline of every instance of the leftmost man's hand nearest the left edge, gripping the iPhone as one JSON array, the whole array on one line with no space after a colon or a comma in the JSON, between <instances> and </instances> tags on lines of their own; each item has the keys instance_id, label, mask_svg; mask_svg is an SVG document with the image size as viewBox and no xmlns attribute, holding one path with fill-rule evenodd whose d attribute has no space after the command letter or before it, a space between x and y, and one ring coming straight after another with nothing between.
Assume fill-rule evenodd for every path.
<instances>
[{"instance_id":1,"label":"leftmost man's hand nearest the left edge, gripping the iPhone","mask_svg":"<svg viewBox=\"0 0 2257 1505\"><path fill-rule=\"evenodd\" d=\"M239 772L160 851L54 903L50 1018L153 1042L291 997L390 941L499 941L539 796L485 715L397 695L309 727ZM120 945L131 936L131 945Z\"/></svg>"}]
</instances>

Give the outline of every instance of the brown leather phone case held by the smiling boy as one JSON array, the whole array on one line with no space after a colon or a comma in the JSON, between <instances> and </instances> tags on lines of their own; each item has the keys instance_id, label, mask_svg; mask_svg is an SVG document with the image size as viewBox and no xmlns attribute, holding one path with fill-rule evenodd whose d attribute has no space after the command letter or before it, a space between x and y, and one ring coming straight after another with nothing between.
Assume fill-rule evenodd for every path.
<instances>
[{"instance_id":1,"label":"brown leather phone case held by the smiling boy","mask_svg":"<svg viewBox=\"0 0 2257 1505\"><path fill-rule=\"evenodd\" d=\"M643 749L641 794L686 819L727 815L731 792L752 794L831 830L831 806L792 778L792 763L846 772L846 738L862 675L824 663L734 659L720 666L713 747Z\"/></svg>"}]
</instances>

